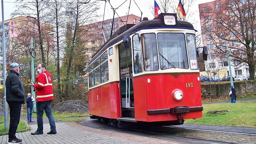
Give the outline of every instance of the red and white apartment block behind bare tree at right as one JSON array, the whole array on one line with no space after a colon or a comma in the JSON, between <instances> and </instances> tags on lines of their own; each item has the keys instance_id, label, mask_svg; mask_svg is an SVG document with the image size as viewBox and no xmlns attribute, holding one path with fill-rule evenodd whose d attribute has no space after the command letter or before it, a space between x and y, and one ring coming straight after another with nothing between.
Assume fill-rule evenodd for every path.
<instances>
[{"instance_id":1,"label":"red and white apartment block behind bare tree at right","mask_svg":"<svg viewBox=\"0 0 256 144\"><path fill-rule=\"evenodd\" d=\"M225 1L225 0L223 0ZM246 0L241 0L241 4L243 4ZM217 47L223 50L226 50L226 41L221 39L220 37L232 37L235 36L235 32L226 32L221 31L219 29L219 39L218 36L214 36L209 34L213 28L213 26L218 26L217 24L213 23L213 18L216 18L216 14L219 14L217 11L220 10L221 1L213 1L204 4L199 4L199 14L200 14L200 23L202 29L202 40L203 45L207 46L208 48L208 60L205 61L205 70L210 73L211 76L217 75L220 78L222 76L230 75L230 71L232 71L233 76L243 75L245 77L249 76L249 67L246 63L240 63L238 60L231 60L231 69L228 67L228 59L227 53L217 51ZM209 12L211 10L211 12ZM214 12L216 11L216 12ZM209 12L209 13L207 13ZM206 14L207 13L207 14ZM231 15L232 13L230 13ZM221 24L220 24L221 25ZM224 35L225 34L225 35ZM229 47L243 47L241 43L238 42L228 42ZM237 49L230 49L230 51L234 54L239 54L239 50Z\"/></svg>"}]
</instances>

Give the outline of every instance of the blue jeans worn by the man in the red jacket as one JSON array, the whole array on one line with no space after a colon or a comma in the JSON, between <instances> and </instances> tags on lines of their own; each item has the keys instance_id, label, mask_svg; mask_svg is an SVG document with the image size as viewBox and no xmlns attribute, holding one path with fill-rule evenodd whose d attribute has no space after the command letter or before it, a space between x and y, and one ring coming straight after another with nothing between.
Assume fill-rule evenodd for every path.
<instances>
[{"instance_id":1,"label":"blue jeans worn by the man in the red jacket","mask_svg":"<svg viewBox=\"0 0 256 144\"><path fill-rule=\"evenodd\" d=\"M48 117L51 131L56 131L55 120L51 110L52 100L36 102L37 132L43 132L43 114Z\"/></svg>"}]
</instances>

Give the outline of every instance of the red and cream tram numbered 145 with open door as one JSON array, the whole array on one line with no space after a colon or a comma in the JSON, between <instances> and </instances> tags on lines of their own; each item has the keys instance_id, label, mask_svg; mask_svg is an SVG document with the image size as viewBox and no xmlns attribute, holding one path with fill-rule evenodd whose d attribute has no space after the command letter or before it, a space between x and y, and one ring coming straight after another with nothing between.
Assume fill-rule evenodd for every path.
<instances>
[{"instance_id":1,"label":"red and cream tram numbered 145 with open door","mask_svg":"<svg viewBox=\"0 0 256 144\"><path fill-rule=\"evenodd\" d=\"M90 117L119 127L202 117L195 31L171 13L117 30L88 65Z\"/></svg>"}]
</instances>

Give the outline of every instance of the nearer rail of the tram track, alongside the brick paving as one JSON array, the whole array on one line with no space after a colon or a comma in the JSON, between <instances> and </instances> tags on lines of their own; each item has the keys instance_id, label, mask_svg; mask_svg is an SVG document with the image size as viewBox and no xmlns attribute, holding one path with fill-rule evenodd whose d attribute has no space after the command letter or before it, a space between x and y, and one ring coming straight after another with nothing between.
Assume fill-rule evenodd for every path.
<instances>
[{"instance_id":1,"label":"nearer rail of the tram track, alongside the brick paving","mask_svg":"<svg viewBox=\"0 0 256 144\"><path fill-rule=\"evenodd\" d=\"M160 135L165 135L165 136L173 136L173 137L179 137L179 138L188 138L188 139L193 139L193 140L203 140L203 141L206 141L206 142L224 143L224 144L238 144L238 143L225 142L225 141L219 141L219 140L207 140L207 139L201 139L201 138L195 138L195 137L188 137L188 136L178 136L178 135L175 135L175 134L167 134L167 133L159 133L159 132L150 132L150 131L139 130L139 129L133 129L133 128L129 128L129 129L135 130L135 131L140 131L140 132L152 133L152 134L160 134Z\"/></svg>"}]
</instances>

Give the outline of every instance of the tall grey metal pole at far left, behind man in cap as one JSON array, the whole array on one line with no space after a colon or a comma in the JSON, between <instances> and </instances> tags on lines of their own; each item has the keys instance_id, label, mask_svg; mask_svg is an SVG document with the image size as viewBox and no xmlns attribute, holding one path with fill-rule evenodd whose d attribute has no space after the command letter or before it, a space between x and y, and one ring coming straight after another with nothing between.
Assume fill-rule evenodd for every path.
<instances>
[{"instance_id":1,"label":"tall grey metal pole at far left, behind man in cap","mask_svg":"<svg viewBox=\"0 0 256 144\"><path fill-rule=\"evenodd\" d=\"M2 30L3 30L3 73L4 73L4 129L9 129L9 116L8 116L8 104L6 102L6 88L5 88L5 80L6 80L6 52L5 52L5 33L4 33L4 0L2 0Z\"/></svg>"}]
</instances>

